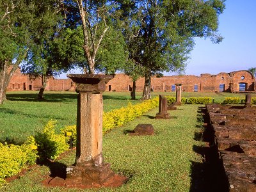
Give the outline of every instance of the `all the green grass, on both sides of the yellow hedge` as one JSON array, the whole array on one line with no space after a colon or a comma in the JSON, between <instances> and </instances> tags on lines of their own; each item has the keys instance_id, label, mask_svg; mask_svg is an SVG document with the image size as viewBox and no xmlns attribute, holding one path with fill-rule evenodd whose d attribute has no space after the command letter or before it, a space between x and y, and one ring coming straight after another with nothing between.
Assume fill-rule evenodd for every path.
<instances>
[{"instance_id":1,"label":"all the green grass, on both sides of the yellow hedge","mask_svg":"<svg viewBox=\"0 0 256 192\"><path fill-rule=\"evenodd\" d=\"M49 120L58 120L58 127L76 124L77 93L45 92L44 101L36 101L37 92L9 92L8 101L0 106L0 140L26 140ZM153 96L173 95L175 93L153 92ZM240 97L244 94L232 93L182 93L182 97L212 97L221 102L224 97ZM137 93L140 99L141 93ZM127 106L140 100L129 100L129 93L104 93L104 111ZM202 158L193 151L195 146L204 143L195 141L195 132L200 131L198 105L179 106L170 111L170 120L155 120L157 108L114 129L103 138L103 153L106 162L116 173L131 177L127 184L115 189L90 189L84 191L195 191L191 189L191 175L195 169L192 164L202 164ZM128 136L125 132L133 130L140 123L152 124L154 136ZM200 126L199 126L200 127ZM15 143L14 142L14 143ZM74 163L75 152L71 151L60 161L52 164L68 166ZM79 189L45 188L41 182L50 175L48 166L33 166L28 173L14 180L0 191L82 191ZM198 177L198 176L197 176Z\"/></svg>"}]
</instances>

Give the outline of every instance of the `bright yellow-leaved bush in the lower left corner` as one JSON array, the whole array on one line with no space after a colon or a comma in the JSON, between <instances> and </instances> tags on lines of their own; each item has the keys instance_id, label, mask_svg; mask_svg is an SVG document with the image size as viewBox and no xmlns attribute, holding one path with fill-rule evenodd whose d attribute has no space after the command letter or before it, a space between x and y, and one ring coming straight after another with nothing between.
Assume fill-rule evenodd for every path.
<instances>
[{"instance_id":1,"label":"bright yellow-leaved bush in the lower left corner","mask_svg":"<svg viewBox=\"0 0 256 192\"><path fill-rule=\"evenodd\" d=\"M31 164L35 164L37 156L35 138L29 136L21 146L0 143L0 186L4 178L15 175Z\"/></svg>"}]
</instances>

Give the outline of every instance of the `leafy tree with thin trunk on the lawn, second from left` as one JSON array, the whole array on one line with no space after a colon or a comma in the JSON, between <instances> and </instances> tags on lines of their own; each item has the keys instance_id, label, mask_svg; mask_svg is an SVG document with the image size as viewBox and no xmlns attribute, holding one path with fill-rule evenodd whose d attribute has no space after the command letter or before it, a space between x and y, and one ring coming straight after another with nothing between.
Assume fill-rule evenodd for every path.
<instances>
[{"instance_id":1,"label":"leafy tree with thin trunk on the lawn, second from left","mask_svg":"<svg viewBox=\"0 0 256 192\"><path fill-rule=\"evenodd\" d=\"M35 1L34 10L36 17L31 26L31 41L28 60L22 65L22 72L31 77L41 77L42 86L38 93L38 99L44 99L44 90L49 77L69 69L68 63L59 62L55 56L56 39L63 32L65 18L62 1L45 0Z\"/></svg>"}]
</instances>

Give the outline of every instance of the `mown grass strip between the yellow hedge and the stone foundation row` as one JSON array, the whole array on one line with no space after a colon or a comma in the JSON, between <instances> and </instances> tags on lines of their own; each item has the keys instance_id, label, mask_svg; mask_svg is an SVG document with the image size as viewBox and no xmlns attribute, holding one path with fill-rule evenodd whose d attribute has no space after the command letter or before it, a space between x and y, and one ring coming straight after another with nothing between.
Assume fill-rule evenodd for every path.
<instances>
[{"instance_id":1,"label":"mown grass strip between the yellow hedge and the stone foundation row","mask_svg":"<svg viewBox=\"0 0 256 192\"><path fill-rule=\"evenodd\" d=\"M193 151L193 147L203 145L194 140L195 132L200 131L198 106L180 106L170 111L169 120L152 118L157 109L114 129L103 137L104 161L111 163L116 173L130 177L127 184L120 188L84 189L84 191L189 191L191 189L191 164L202 163L202 158ZM154 136L129 136L125 134L136 125L152 124ZM55 162L68 166L74 163L75 153ZM53 165L52 165L53 166ZM52 167L51 167L52 168ZM82 191L81 189L45 188L42 180L50 175L47 166L35 166L28 173L1 191Z\"/></svg>"}]
</instances>

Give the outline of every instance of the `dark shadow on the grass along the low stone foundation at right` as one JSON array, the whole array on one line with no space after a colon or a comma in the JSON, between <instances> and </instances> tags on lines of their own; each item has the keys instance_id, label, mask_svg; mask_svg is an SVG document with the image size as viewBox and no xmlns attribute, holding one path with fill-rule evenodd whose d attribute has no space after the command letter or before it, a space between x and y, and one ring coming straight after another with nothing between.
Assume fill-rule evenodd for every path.
<instances>
[{"instance_id":1,"label":"dark shadow on the grass along the low stone foundation at right","mask_svg":"<svg viewBox=\"0 0 256 192\"><path fill-rule=\"evenodd\" d=\"M209 122L205 108L199 108L198 113L203 113L203 119ZM200 126L202 127L202 126ZM198 127L198 128L200 128ZM190 192L209 191L226 192L229 190L228 180L225 175L223 163L218 154L218 149L213 146L214 133L210 125L204 124L204 130L195 132L194 140L204 141L204 146L193 145L193 151L202 157L202 163L191 161L191 186Z\"/></svg>"}]
</instances>

